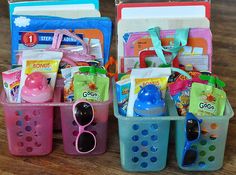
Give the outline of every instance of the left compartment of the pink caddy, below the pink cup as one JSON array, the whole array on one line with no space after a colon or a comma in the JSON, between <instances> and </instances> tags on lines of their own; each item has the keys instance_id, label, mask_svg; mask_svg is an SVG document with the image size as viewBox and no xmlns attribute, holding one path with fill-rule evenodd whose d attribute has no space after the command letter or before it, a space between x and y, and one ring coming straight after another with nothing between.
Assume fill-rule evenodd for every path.
<instances>
[{"instance_id":1,"label":"left compartment of the pink caddy, below the pink cup","mask_svg":"<svg viewBox=\"0 0 236 175\"><path fill-rule=\"evenodd\" d=\"M60 90L55 90L54 100L43 104L14 104L6 101L2 91L7 129L8 147L16 156L42 156L52 151L53 109L60 101Z\"/></svg>"}]
</instances>

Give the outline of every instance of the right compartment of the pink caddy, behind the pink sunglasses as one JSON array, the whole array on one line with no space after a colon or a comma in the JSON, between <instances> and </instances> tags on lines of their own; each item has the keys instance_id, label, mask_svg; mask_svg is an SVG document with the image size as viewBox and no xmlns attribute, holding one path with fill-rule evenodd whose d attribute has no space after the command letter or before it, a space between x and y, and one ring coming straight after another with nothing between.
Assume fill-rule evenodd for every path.
<instances>
[{"instance_id":1,"label":"right compartment of the pink caddy, behind the pink sunglasses","mask_svg":"<svg viewBox=\"0 0 236 175\"><path fill-rule=\"evenodd\" d=\"M91 153L86 155L98 155L106 152L108 114L111 100L112 96L110 96L110 99L106 102L92 103L95 119L94 122L86 128L86 130L94 133L97 139L97 145ZM64 151L66 154L70 155L82 155L78 153L75 148L75 140L78 135L79 128L73 118L72 106L73 103L60 104Z\"/></svg>"}]
</instances>

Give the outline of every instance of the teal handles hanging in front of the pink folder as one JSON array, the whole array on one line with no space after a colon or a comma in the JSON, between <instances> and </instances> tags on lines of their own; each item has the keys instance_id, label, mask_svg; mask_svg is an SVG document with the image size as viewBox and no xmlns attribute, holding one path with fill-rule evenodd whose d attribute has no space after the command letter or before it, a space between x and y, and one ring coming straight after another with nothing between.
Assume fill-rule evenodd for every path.
<instances>
[{"instance_id":1,"label":"teal handles hanging in front of the pink folder","mask_svg":"<svg viewBox=\"0 0 236 175\"><path fill-rule=\"evenodd\" d=\"M188 43L188 34L189 28L186 29L177 29L174 36L174 46L171 49L165 49L162 46L161 39L160 39L160 28L155 27L148 30L154 49L156 54L162 60L163 64L167 64L165 55L163 51L172 53L172 60L178 55L179 51L187 45Z\"/></svg>"}]
</instances>

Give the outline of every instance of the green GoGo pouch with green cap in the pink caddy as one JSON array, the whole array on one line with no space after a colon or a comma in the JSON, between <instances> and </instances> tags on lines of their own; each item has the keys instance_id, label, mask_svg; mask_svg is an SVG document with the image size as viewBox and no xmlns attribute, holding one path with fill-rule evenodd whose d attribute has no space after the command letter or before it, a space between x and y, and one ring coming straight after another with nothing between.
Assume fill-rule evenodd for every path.
<instances>
[{"instance_id":1,"label":"green GoGo pouch with green cap in the pink caddy","mask_svg":"<svg viewBox=\"0 0 236 175\"><path fill-rule=\"evenodd\" d=\"M74 98L90 102L104 102L109 99L110 80L101 68L81 67L81 73L74 75ZM85 74L83 74L85 73Z\"/></svg>"}]
</instances>

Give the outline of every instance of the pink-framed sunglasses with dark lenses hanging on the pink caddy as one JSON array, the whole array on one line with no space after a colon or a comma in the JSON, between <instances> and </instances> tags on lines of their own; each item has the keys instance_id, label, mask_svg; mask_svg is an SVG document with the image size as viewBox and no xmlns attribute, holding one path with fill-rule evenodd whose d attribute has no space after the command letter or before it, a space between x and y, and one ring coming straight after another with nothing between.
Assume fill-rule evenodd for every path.
<instances>
[{"instance_id":1,"label":"pink-framed sunglasses with dark lenses hanging on the pink caddy","mask_svg":"<svg viewBox=\"0 0 236 175\"><path fill-rule=\"evenodd\" d=\"M76 151L80 154L88 154L96 148L95 135L85 130L94 120L94 109L87 101L78 100L73 105L73 117L79 126L79 134L76 138Z\"/></svg>"}]
</instances>

